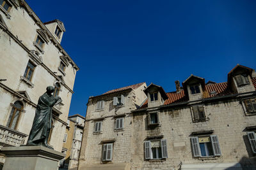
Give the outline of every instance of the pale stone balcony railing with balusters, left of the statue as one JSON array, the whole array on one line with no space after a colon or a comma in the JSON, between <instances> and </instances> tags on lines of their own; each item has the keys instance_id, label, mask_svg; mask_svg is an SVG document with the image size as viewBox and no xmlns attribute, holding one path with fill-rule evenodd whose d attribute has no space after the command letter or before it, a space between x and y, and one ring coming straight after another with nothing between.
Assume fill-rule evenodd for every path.
<instances>
[{"instance_id":1,"label":"pale stone balcony railing with balusters, left of the statue","mask_svg":"<svg viewBox=\"0 0 256 170\"><path fill-rule=\"evenodd\" d=\"M0 125L0 143L6 146L20 146L24 144L28 135Z\"/></svg>"}]
</instances>

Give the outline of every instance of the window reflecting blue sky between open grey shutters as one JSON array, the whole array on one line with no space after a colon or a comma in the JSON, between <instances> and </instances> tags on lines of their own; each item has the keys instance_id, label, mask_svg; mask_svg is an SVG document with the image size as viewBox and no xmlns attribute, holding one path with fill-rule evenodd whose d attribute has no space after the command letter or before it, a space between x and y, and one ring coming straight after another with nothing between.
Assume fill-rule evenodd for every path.
<instances>
[{"instance_id":1,"label":"window reflecting blue sky between open grey shutters","mask_svg":"<svg viewBox=\"0 0 256 170\"><path fill-rule=\"evenodd\" d=\"M220 156L220 145L216 135L191 138L194 157Z\"/></svg>"}]
</instances>

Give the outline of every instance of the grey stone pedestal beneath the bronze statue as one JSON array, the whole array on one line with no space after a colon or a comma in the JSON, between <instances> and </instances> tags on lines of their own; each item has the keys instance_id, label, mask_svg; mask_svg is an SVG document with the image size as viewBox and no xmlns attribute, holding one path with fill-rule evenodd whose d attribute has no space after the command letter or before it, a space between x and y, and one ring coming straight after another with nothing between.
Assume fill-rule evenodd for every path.
<instances>
[{"instance_id":1,"label":"grey stone pedestal beneath the bronze statue","mask_svg":"<svg viewBox=\"0 0 256 170\"><path fill-rule=\"evenodd\" d=\"M58 161L65 157L44 146L3 147L1 153L6 156L3 170L57 170Z\"/></svg>"}]
</instances>

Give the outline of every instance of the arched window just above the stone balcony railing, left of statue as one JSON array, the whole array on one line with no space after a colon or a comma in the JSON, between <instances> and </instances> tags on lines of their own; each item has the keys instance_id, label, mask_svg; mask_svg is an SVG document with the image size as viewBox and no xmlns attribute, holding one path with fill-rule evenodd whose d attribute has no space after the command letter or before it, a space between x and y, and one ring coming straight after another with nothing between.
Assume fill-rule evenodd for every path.
<instances>
[{"instance_id":1,"label":"arched window just above the stone balcony railing, left of statue","mask_svg":"<svg viewBox=\"0 0 256 170\"><path fill-rule=\"evenodd\" d=\"M15 101L12 106L12 112L7 122L7 127L10 127L11 129L17 129L22 109L23 104L20 101Z\"/></svg>"}]
</instances>

